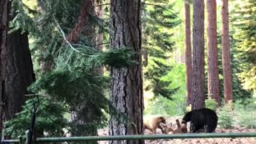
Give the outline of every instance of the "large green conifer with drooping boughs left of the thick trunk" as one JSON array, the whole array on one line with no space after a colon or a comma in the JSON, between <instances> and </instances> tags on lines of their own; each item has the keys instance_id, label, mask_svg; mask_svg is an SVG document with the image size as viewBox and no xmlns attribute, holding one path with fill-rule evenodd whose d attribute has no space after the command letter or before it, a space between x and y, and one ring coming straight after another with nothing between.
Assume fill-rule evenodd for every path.
<instances>
[{"instance_id":1,"label":"large green conifer with drooping boughs left of the thick trunk","mask_svg":"<svg viewBox=\"0 0 256 144\"><path fill-rule=\"evenodd\" d=\"M38 74L38 81L33 86L34 93L43 91L42 97L50 98L53 102L63 102L70 111L75 108L78 111L78 119L83 118L84 122L86 120L83 114L90 107L92 120L82 123L83 126L73 127L70 133L77 134L75 131L80 128L83 134L95 134L98 127L106 126L106 115L102 110L108 112L109 104L108 99L102 94L108 80L102 75L94 74L95 67L134 64L134 61L129 60L134 53L124 48L103 53L97 50L94 42L90 42L89 38L82 35L84 32L74 38L73 43L67 41L67 38L70 38L69 34L75 34L72 30L78 25L75 20L78 19L80 6L83 6L82 0L66 0L61 3L38 1L39 14L34 13L19 0L14 2L18 14L15 21L11 22L12 26L22 26L24 31L30 31L35 38L32 49L34 56L41 56L38 58L39 62L50 62L50 66L45 65L46 72ZM34 14L34 18L30 18L28 14ZM102 22L94 14L88 18L92 26L96 21Z\"/></svg>"}]
</instances>

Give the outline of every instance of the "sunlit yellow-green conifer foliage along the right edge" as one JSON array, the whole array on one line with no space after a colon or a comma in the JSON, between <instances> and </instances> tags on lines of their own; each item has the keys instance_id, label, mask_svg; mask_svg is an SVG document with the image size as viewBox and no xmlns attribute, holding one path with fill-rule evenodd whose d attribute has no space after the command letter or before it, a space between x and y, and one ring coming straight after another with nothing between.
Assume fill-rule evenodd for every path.
<instances>
[{"instance_id":1,"label":"sunlit yellow-green conifer foliage along the right edge","mask_svg":"<svg viewBox=\"0 0 256 144\"><path fill-rule=\"evenodd\" d=\"M242 71L239 77L242 79L246 90L256 90L256 2L252 0L234 1L232 24L236 28L234 38L236 49L239 51L236 56L239 58L239 66Z\"/></svg>"}]
</instances>

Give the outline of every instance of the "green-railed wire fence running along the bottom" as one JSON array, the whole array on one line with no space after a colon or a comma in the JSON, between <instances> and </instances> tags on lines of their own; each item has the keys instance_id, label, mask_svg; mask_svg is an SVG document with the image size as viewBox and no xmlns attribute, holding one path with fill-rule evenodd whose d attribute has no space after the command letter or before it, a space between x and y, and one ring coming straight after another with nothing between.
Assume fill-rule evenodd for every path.
<instances>
[{"instance_id":1,"label":"green-railed wire fence running along the bottom","mask_svg":"<svg viewBox=\"0 0 256 144\"><path fill-rule=\"evenodd\" d=\"M111 141L124 143L124 141L145 141L146 144L242 144L256 143L256 133L201 133L201 134L142 134L118 136L87 136L63 138L37 138L34 143L98 143L105 144ZM1 143L26 143L24 139L4 140ZM135 142L130 142L135 143Z\"/></svg>"}]
</instances>

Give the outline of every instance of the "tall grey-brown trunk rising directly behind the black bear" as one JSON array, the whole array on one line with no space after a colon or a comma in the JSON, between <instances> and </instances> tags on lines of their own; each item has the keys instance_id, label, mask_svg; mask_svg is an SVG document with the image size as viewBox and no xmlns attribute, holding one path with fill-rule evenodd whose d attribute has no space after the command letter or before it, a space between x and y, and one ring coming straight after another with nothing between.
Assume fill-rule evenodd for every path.
<instances>
[{"instance_id":1,"label":"tall grey-brown trunk rising directly behind the black bear","mask_svg":"<svg viewBox=\"0 0 256 144\"><path fill-rule=\"evenodd\" d=\"M193 69L192 110L206 106L205 103L205 54L204 54L204 1L194 0L193 14Z\"/></svg>"}]
</instances>

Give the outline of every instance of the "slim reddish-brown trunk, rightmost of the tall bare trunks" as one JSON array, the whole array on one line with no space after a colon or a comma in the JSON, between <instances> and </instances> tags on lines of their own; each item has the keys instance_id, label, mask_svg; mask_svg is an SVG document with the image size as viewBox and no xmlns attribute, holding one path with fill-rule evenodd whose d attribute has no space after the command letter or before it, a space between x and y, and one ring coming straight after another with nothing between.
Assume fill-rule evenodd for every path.
<instances>
[{"instance_id":1,"label":"slim reddish-brown trunk, rightmost of the tall bare trunks","mask_svg":"<svg viewBox=\"0 0 256 144\"><path fill-rule=\"evenodd\" d=\"M225 103L233 102L232 78L230 70L230 34L228 0L222 0L222 66Z\"/></svg>"}]
</instances>

